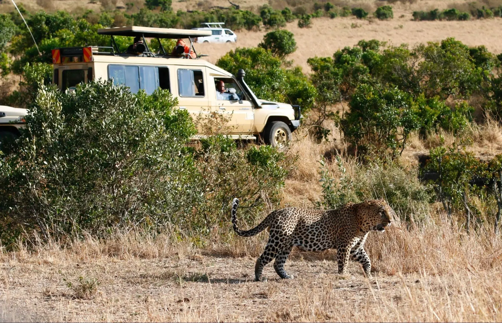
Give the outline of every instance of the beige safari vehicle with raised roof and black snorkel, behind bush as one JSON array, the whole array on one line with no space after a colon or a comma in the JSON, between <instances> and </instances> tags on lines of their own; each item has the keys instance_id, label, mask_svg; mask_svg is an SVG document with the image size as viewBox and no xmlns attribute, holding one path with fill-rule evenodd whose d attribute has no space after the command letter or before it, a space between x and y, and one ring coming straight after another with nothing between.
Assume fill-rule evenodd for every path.
<instances>
[{"instance_id":1,"label":"beige safari vehicle with raised roof and black snorkel, behind bush","mask_svg":"<svg viewBox=\"0 0 502 323\"><path fill-rule=\"evenodd\" d=\"M260 100L244 81L245 72L232 75L200 59L193 47L194 37L211 35L207 30L164 29L147 27L104 28L97 31L110 36L110 47L59 48L52 51L53 83L62 91L72 91L82 82L110 79L126 85L131 92L140 89L152 94L155 89L169 90L178 99L178 108L192 118L223 116L224 131L234 139L257 139L273 146L291 139L300 124L300 107ZM120 52L113 36L135 37L127 52ZM146 38L156 38L160 53L152 53ZM162 47L161 38L178 39L172 51ZM183 46L181 39L190 45ZM226 92L216 86L223 81ZM195 139L205 137L201 132Z\"/></svg>"}]
</instances>

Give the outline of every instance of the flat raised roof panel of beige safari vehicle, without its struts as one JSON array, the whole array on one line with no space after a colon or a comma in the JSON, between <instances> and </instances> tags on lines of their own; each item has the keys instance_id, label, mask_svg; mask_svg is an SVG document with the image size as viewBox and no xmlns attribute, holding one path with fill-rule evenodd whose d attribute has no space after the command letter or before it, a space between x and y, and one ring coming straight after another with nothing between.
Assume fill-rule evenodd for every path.
<instances>
[{"instance_id":1,"label":"flat raised roof panel of beige safari vehicle, without its struts","mask_svg":"<svg viewBox=\"0 0 502 323\"><path fill-rule=\"evenodd\" d=\"M101 28L97 30L97 33L99 35L110 35L110 36L171 38L171 39L205 37L212 35L210 30L152 28L152 27L138 27L138 26Z\"/></svg>"}]
</instances>

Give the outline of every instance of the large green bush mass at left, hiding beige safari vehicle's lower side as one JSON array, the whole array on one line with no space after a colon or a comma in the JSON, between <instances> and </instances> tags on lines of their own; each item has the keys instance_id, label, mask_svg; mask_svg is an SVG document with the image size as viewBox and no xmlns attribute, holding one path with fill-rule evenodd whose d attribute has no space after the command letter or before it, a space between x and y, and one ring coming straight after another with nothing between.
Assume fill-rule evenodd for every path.
<instances>
[{"instance_id":1,"label":"large green bush mass at left, hiding beige safari vehicle's lower side","mask_svg":"<svg viewBox=\"0 0 502 323\"><path fill-rule=\"evenodd\" d=\"M261 194L277 202L294 160L221 135L187 148L195 127L175 105L168 91L111 82L40 88L21 137L0 146L2 242L137 225L205 234L227 225L233 197L252 206L244 217L263 207Z\"/></svg>"}]
</instances>

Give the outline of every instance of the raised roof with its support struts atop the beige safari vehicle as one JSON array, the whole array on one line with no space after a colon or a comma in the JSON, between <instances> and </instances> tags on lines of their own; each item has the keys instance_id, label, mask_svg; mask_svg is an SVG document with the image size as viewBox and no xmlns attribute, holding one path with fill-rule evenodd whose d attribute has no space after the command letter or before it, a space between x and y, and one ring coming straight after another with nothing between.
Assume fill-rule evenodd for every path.
<instances>
[{"instance_id":1,"label":"raised roof with its support struts atop the beige safari vehicle","mask_svg":"<svg viewBox=\"0 0 502 323\"><path fill-rule=\"evenodd\" d=\"M97 30L99 35L110 35L110 43L111 47L115 48L116 52L120 54L120 50L118 49L113 36L128 36L128 37L142 37L143 44L146 46L146 51L143 52L144 55L157 57L156 54L150 52L148 48L148 44L145 38L157 38L159 41L160 49L162 50L164 55L168 55L166 50L162 46L160 41L161 38L168 39L183 39L188 38L190 40L190 48L194 51L197 58L201 56L207 55L197 55L195 48L193 47L192 38L193 37L205 37L211 36L211 31L208 30L192 30L192 29L175 29L175 28L152 28L152 27L138 27L138 26L127 26L127 27L115 27L115 28L100 28ZM115 54L113 54L115 55ZM185 55L187 58L190 57L190 54Z\"/></svg>"}]
</instances>

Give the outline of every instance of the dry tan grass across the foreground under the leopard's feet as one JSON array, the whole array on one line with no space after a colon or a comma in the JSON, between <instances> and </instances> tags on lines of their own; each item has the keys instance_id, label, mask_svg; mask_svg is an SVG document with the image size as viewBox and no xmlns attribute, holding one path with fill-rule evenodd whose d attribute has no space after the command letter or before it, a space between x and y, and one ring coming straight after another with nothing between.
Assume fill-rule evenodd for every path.
<instances>
[{"instance_id":1,"label":"dry tan grass across the foreground under the leopard's feet","mask_svg":"<svg viewBox=\"0 0 502 323\"><path fill-rule=\"evenodd\" d=\"M2 253L3 301L41 320L65 321L499 321L501 241L465 236L440 217L423 228L391 227L367 242L373 278L358 264L335 273L333 252L294 252L295 279L253 282L266 234L198 249L123 234ZM68 279L99 281L75 297ZM11 316L12 317L12 316Z\"/></svg>"}]
</instances>

